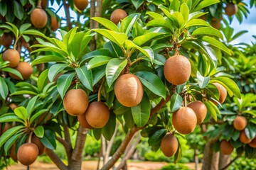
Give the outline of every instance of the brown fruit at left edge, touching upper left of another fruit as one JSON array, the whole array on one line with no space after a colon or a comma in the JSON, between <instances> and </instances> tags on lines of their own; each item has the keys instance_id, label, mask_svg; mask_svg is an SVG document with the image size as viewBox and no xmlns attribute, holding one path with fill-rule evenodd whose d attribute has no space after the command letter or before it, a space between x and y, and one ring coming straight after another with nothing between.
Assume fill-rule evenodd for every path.
<instances>
[{"instance_id":1,"label":"brown fruit at left edge, touching upper left of another fruit","mask_svg":"<svg viewBox=\"0 0 256 170\"><path fill-rule=\"evenodd\" d=\"M20 60L20 55L17 50L8 49L3 54L3 60L9 61L9 67L16 67Z\"/></svg>"}]
</instances>

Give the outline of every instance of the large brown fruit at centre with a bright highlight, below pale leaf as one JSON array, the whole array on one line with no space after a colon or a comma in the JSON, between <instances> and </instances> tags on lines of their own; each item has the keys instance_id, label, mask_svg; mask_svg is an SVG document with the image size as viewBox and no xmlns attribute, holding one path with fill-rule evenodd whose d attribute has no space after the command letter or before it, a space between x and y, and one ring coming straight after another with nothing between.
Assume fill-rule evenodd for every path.
<instances>
[{"instance_id":1,"label":"large brown fruit at centre with a bright highlight, below pale leaf","mask_svg":"<svg viewBox=\"0 0 256 170\"><path fill-rule=\"evenodd\" d=\"M137 106L143 97L143 86L134 74L123 74L114 84L114 94L123 106Z\"/></svg>"}]
</instances>

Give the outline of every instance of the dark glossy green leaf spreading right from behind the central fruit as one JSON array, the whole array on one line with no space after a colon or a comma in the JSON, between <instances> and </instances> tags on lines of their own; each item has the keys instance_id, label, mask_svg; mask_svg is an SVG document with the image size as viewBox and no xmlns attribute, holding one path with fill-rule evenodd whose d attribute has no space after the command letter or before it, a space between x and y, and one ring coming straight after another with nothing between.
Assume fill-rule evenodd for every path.
<instances>
[{"instance_id":1,"label":"dark glossy green leaf spreading right from behind the central fruit","mask_svg":"<svg viewBox=\"0 0 256 170\"><path fill-rule=\"evenodd\" d=\"M166 88L161 79L151 72L137 72L135 75L139 77L142 84L146 86L152 93L166 98Z\"/></svg>"}]
</instances>

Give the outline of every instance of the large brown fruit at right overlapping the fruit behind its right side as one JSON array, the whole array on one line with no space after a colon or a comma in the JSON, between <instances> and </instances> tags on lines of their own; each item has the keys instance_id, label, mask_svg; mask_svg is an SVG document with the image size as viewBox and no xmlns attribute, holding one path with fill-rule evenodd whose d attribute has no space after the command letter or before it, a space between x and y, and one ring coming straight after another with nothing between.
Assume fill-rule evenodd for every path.
<instances>
[{"instance_id":1,"label":"large brown fruit at right overlapping the fruit behind its right side","mask_svg":"<svg viewBox=\"0 0 256 170\"><path fill-rule=\"evenodd\" d=\"M181 107L172 116L174 128L183 135L193 132L196 128L196 113L192 108Z\"/></svg>"}]
</instances>

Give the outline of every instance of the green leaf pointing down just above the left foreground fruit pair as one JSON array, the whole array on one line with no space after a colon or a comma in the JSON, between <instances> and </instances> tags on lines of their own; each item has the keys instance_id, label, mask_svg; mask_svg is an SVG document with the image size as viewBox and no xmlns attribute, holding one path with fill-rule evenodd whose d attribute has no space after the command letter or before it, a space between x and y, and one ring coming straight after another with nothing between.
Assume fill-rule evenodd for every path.
<instances>
[{"instance_id":1,"label":"green leaf pointing down just above the left foreground fruit pair","mask_svg":"<svg viewBox=\"0 0 256 170\"><path fill-rule=\"evenodd\" d=\"M82 84L90 91L93 91L93 89L92 89L92 71L87 70L86 66L82 66L80 68L75 68L75 72L76 72L76 74L78 74L78 79L80 79Z\"/></svg>"}]
</instances>

